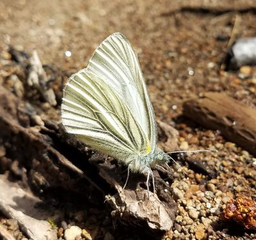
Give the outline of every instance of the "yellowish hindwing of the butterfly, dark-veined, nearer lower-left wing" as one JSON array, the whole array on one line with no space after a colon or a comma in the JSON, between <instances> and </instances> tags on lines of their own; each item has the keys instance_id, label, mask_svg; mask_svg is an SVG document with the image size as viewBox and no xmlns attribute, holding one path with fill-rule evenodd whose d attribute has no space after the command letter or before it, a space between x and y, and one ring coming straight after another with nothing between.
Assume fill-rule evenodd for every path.
<instances>
[{"instance_id":1,"label":"yellowish hindwing of the butterfly, dark-veined, nearer lower-left wing","mask_svg":"<svg viewBox=\"0 0 256 240\"><path fill-rule=\"evenodd\" d=\"M147 154L147 136L131 110L111 85L88 68L70 77L61 117L68 133L119 160Z\"/></svg>"}]
</instances>

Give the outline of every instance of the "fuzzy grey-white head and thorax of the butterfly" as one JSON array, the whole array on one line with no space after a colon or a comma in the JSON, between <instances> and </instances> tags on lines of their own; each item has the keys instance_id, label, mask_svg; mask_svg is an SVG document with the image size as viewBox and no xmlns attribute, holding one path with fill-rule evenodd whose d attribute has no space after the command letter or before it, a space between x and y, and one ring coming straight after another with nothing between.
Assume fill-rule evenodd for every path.
<instances>
[{"instance_id":1,"label":"fuzzy grey-white head and thorax of the butterfly","mask_svg":"<svg viewBox=\"0 0 256 240\"><path fill-rule=\"evenodd\" d=\"M157 163L168 163L169 161L170 156L164 153L164 151L157 149L157 151L148 153L145 156L133 155L125 163L131 172L146 174L148 170L154 168L154 165Z\"/></svg>"}]
</instances>

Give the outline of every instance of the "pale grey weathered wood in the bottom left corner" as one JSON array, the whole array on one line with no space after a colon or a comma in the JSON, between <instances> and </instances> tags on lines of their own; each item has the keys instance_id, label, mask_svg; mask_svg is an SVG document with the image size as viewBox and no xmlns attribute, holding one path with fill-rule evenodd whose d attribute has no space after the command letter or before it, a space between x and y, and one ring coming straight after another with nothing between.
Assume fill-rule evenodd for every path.
<instances>
[{"instance_id":1,"label":"pale grey weathered wood in the bottom left corner","mask_svg":"<svg viewBox=\"0 0 256 240\"><path fill-rule=\"evenodd\" d=\"M19 184L11 183L4 176L0 176L0 210L8 218L18 221L20 229L34 240L57 240L57 230L52 229L47 218L63 218L63 212L52 212L50 208L40 208L42 200L30 191L24 191ZM57 213L58 212L58 213ZM54 216L55 215L55 216ZM4 230L0 225L0 233ZM4 232L3 232L4 233ZM2 234L3 234L2 233ZM7 234L7 232L6 232ZM1 236L1 234L0 234ZM7 235L6 235L7 236ZM8 238L8 240L13 240Z\"/></svg>"}]
</instances>

